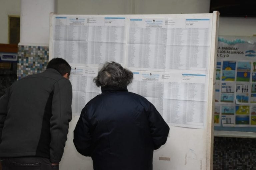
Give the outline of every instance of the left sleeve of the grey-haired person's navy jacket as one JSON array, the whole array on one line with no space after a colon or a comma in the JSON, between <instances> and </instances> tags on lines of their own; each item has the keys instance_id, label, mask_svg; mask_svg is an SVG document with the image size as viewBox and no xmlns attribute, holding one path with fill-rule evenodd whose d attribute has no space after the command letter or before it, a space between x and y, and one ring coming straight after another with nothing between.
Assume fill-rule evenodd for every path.
<instances>
[{"instance_id":1,"label":"left sleeve of the grey-haired person's navy jacket","mask_svg":"<svg viewBox=\"0 0 256 170\"><path fill-rule=\"evenodd\" d=\"M85 107L76 124L73 139L76 150L84 156L91 156L92 151L92 133L89 129L88 114Z\"/></svg>"}]
</instances>

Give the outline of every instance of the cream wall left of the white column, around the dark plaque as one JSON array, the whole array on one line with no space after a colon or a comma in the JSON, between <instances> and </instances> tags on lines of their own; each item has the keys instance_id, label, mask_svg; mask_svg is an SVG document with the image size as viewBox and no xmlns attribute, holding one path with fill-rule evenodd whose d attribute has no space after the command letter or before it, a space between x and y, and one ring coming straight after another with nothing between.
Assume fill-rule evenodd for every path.
<instances>
[{"instance_id":1,"label":"cream wall left of the white column, around the dark plaque","mask_svg":"<svg viewBox=\"0 0 256 170\"><path fill-rule=\"evenodd\" d=\"M0 43L8 43L8 15L20 16L19 0L0 0Z\"/></svg>"}]
</instances>

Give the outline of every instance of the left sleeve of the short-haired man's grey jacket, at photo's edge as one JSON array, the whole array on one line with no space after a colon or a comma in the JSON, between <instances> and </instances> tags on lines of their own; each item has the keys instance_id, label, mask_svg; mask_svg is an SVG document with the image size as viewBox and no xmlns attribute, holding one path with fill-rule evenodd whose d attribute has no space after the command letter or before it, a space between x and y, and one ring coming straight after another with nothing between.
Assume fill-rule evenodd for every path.
<instances>
[{"instance_id":1,"label":"left sleeve of the short-haired man's grey jacket, at photo's edge","mask_svg":"<svg viewBox=\"0 0 256 170\"><path fill-rule=\"evenodd\" d=\"M9 90L0 98L0 143L2 142L2 130L7 116L7 106L9 102Z\"/></svg>"}]
</instances>

